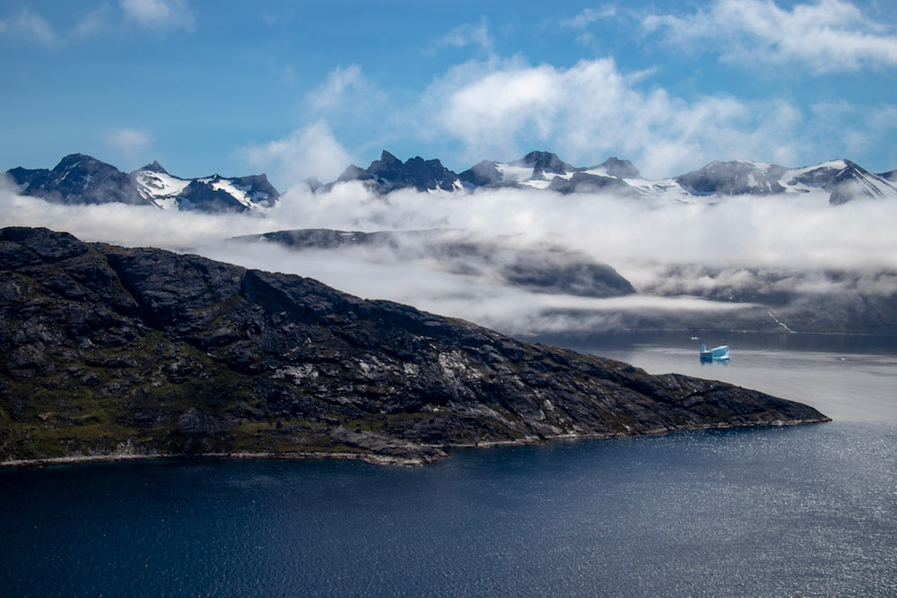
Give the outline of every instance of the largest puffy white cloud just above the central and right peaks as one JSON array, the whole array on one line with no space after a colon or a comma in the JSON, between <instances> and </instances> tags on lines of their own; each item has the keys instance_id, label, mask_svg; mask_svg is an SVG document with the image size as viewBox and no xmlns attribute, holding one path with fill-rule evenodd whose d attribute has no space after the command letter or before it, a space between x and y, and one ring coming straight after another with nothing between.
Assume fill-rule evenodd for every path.
<instances>
[{"instance_id":1,"label":"largest puffy white cloud just above the central and right peaks","mask_svg":"<svg viewBox=\"0 0 897 598\"><path fill-rule=\"evenodd\" d=\"M648 87L648 78L621 72L611 58L570 68L471 62L431 85L423 112L434 115L425 122L464 143L468 160L508 160L544 143L583 165L622 154L651 178L719 156L796 160L802 115L788 101L685 100Z\"/></svg>"}]
</instances>

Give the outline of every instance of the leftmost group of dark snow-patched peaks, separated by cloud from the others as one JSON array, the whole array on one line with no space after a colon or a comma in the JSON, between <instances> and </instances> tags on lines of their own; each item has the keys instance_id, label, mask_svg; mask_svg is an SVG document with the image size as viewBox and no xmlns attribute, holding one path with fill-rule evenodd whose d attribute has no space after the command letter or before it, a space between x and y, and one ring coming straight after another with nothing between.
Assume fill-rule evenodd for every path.
<instances>
[{"instance_id":1,"label":"leftmost group of dark snow-patched peaks, separated by cloud from the others","mask_svg":"<svg viewBox=\"0 0 897 598\"><path fill-rule=\"evenodd\" d=\"M280 198L266 176L178 178L158 161L130 174L91 156L65 156L56 168L9 170L23 195L57 204L155 205L203 212L264 212Z\"/></svg>"}]
</instances>

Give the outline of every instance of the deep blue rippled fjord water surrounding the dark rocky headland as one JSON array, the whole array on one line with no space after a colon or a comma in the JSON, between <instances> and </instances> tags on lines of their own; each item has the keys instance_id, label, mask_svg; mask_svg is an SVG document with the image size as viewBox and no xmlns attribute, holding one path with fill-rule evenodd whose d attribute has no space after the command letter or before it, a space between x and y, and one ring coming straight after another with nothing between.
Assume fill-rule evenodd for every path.
<instances>
[{"instance_id":1,"label":"deep blue rippled fjord water surrounding the dark rocky headland","mask_svg":"<svg viewBox=\"0 0 897 598\"><path fill-rule=\"evenodd\" d=\"M553 340L557 342L557 339ZM0 472L5 595L897 595L897 351L567 339L832 423L339 461ZM786 341L796 343L796 341ZM777 344L778 343L778 344ZM693 345L693 346L692 346Z\"/></svg>"}]
</instances>

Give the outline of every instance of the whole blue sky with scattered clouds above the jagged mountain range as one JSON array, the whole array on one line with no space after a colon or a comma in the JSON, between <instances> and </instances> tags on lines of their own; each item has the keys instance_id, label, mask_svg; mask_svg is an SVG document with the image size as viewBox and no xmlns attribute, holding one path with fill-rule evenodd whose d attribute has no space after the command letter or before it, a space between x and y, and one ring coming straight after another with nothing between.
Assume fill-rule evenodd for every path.
<instances>
[{"instance_id":1,"label":"whole blue sky with scattered clouds above the jagged mountain range","mask_svg":"<svg viewBox=\"0 0 897 598\"><path fill-rule=\"evenodd\" d=\"M897 169L893 2L7 0L0 169L89 153L284 189L388 149Z\"/></svg>"}]
</instances>

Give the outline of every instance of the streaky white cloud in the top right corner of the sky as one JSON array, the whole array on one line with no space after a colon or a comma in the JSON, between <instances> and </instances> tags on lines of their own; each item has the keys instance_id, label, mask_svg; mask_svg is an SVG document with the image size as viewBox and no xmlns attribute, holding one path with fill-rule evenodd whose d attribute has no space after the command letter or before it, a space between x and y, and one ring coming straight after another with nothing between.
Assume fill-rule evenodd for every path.
<instances>
[{"instance_id":1,"label":"streaky white cloud in the top right corner of the sky","mask_svg":"<svg viewBox=\"0 0 897 598\"><path fill-rule=\"evenodd\" d=\"M650 14L642 26L679 48L710 49L737 64L794 63L816 73L897 66L893 26L842 0L789 10L771 0L716 0L709 10L689 15Z\"/></svg>"}]
</instances>

